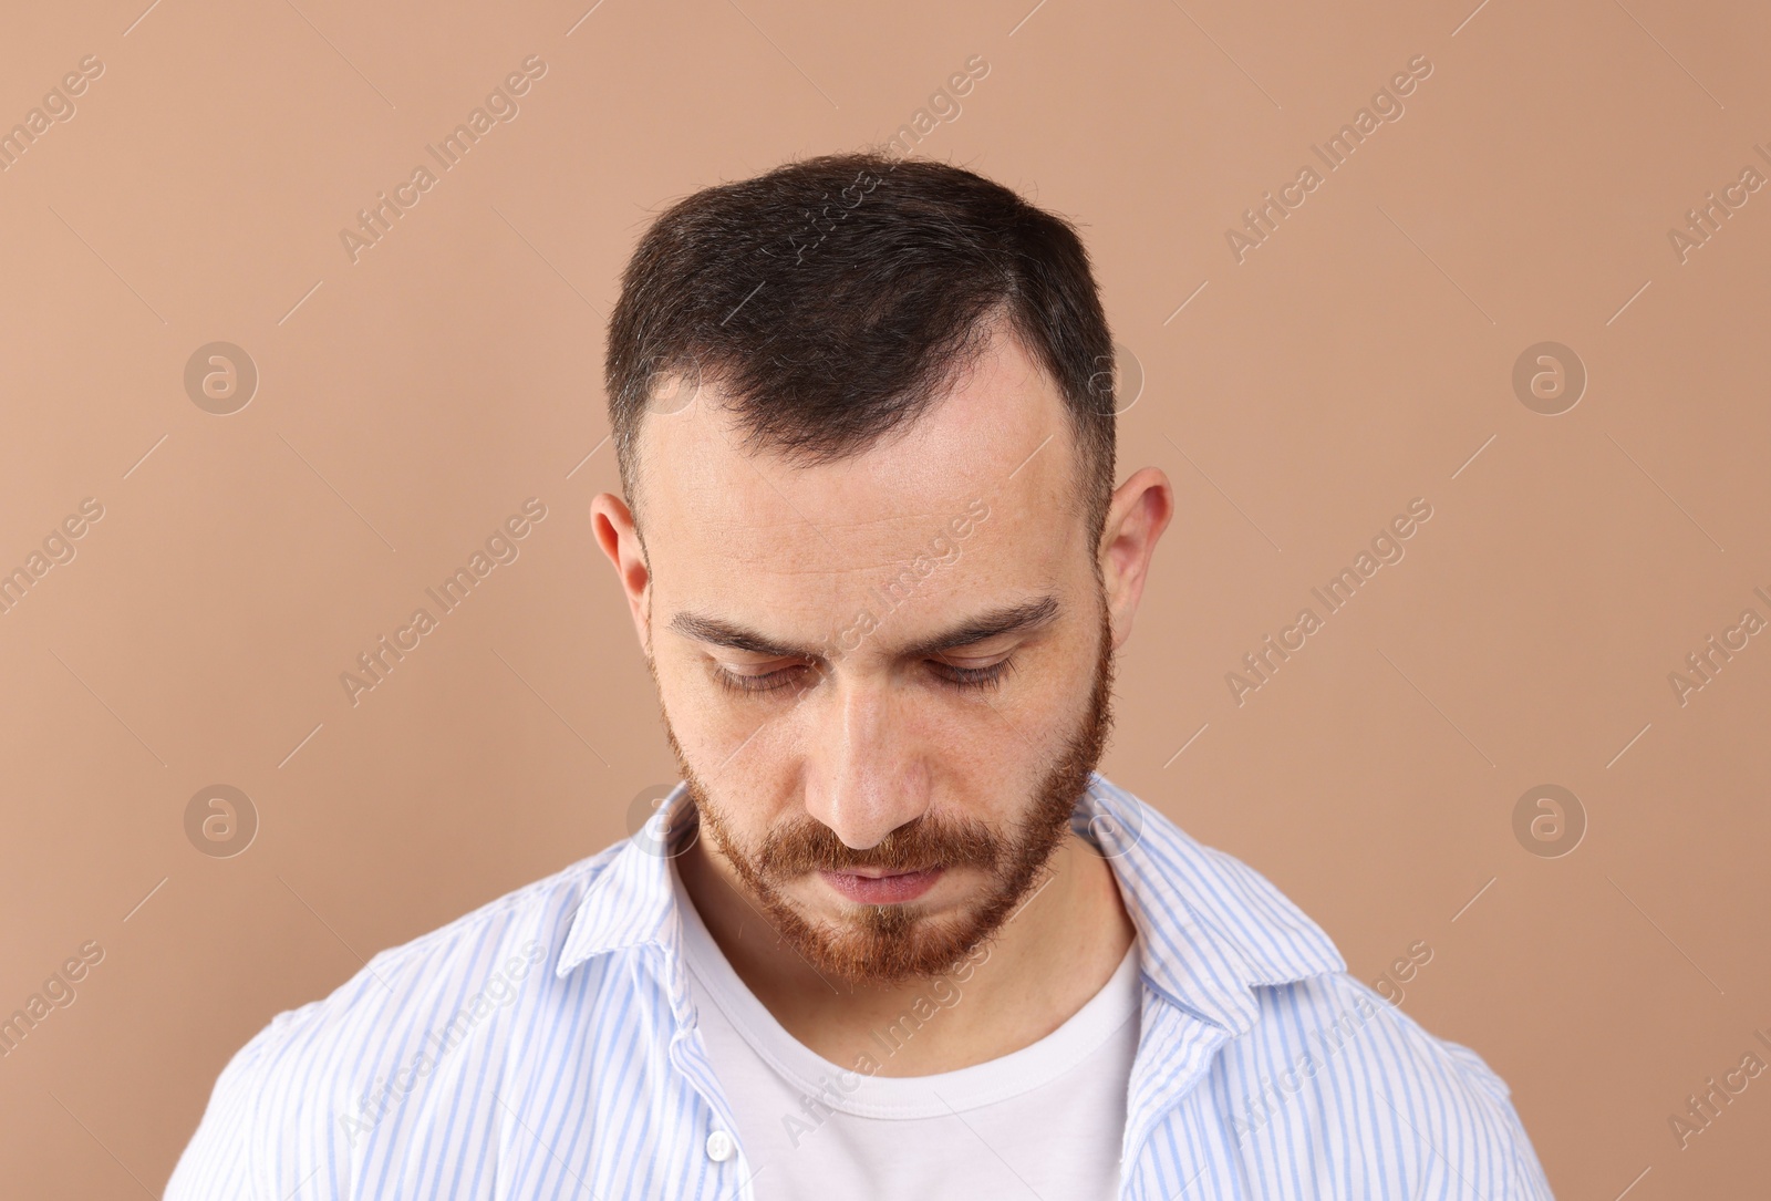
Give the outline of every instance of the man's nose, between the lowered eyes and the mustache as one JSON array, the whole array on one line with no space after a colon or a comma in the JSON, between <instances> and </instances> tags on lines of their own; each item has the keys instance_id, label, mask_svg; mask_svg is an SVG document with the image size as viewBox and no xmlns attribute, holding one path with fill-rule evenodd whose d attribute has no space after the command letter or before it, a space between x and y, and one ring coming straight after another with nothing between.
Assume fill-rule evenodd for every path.
<instances>
[{"instance_id":1,"label":"man's nose, between the lowered eyes and the mustache","mask_svg":"<svg viewBox=\"0 0 1771 1201\"><path fill-rule=\"evenodd\" d=\"M928 767L886 680L829 680L813 700L806 813L854 850L928 810Z\"/></svg>"}]
</instances>

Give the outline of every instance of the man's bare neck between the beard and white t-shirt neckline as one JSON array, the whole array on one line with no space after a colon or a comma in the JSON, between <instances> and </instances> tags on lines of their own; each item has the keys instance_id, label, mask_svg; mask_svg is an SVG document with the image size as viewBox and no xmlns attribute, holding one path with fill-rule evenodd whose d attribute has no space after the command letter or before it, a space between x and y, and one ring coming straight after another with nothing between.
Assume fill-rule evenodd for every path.
<instances>
[{"instance_id":1,"label":"man's bare neck between the beard and white t-shirt neckline","mask_svg":"<svg viewBox=\"0 0 1771 1201\"><path fill-rule=\"evenodd\" d=\"M820 976L774 932L705 838L675 863L763 1008L831 1063L868 1056L877 1075L955 1072L1045 1038L1100 992L1135 937L1112 868L1070 834L1029 900L946 976L850 985Z\"/></svg>"}]
</instances>

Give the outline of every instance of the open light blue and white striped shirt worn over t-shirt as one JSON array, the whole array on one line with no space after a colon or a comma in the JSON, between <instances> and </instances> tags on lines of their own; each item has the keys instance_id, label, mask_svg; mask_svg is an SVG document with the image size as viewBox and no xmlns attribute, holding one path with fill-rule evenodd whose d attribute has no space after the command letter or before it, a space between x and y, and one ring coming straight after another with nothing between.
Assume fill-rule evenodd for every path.
<instances>
[{"instance_id":1,"label":"open light blue and white striped shirt worn over t-shirt","mask_svg":"<svg viewBox=\"0 0 1771 1201\"><path fill-rule=\"evenodd\" d=\"M1121 1197L1550 1197L1507 1086L1348 976L1257 872L1100 776L1073 824L1142 955ZM166 1201L767 1201L793 1167L756 1180L735 1137L669 872L618 843L278 1015Z\"/></svg>"}]
</instances>

